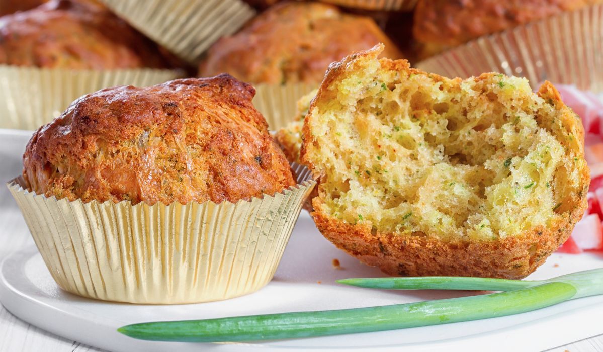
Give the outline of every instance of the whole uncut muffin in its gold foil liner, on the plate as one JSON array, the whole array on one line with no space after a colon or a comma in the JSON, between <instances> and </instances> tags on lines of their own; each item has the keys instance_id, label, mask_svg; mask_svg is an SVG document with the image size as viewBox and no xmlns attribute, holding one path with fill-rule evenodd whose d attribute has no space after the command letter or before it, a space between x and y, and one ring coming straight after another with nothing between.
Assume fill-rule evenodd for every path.
<instances>
[{"instance_id":1,"label":"whole uncut muffin in its gold foil liner, on the plate","mask_svg":"<svg viewBox=\"0 0 603 352\"><path fill-rule=\"evenodd\" d=\"M114 87L40 127L8 187L58 285L171 304L268 283L314 181L253 94L226 74Z\"/></svg>"}]
</instances>

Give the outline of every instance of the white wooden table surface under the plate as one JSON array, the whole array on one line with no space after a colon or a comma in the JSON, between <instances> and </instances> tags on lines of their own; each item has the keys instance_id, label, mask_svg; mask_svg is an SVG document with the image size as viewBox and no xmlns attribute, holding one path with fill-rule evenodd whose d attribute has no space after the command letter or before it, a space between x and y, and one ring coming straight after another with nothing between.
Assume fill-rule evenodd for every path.
<instances>
[{"instance_id":1,"label":"white wooden table surface under the plate","mask_svg":"<svg viewBox=\"0 0 603 352\"><path fill-rule=\"evenodd\" d=\"M21 166L19 160L15 158L7 159L2 156L0 150L0 175L8 171L16 175ZM4 176L4 175L3 175ZM8 253L19 250L22 247L33 245L30 236L25 236L10 228L14 222L9 219L15 217L21 218L21 213L16 207L13 198L8 189L4 186L7 180L1 180L0 183L0 260ZM603 324L603 316L601 317ZM567 327L568 329L572 327ZM570 351L570 352L590 352L603 351L603 335L596 336L583 341L578 341L563 347L555 348L551 351ZM0 306L0 352L13 351L40 351L40 352L82 352L82 351L101 351L97 348L80 344L77 341L69 341L60 336L40 330L27 322L13 316L4 307Z\"/></svg>"}]
</instances>

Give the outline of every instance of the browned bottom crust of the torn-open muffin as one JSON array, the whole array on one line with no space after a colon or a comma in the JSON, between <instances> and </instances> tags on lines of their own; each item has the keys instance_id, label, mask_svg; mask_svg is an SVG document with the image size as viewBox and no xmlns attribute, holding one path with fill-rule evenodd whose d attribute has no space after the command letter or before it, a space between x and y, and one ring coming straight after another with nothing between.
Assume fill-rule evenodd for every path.
<instances>
[{"instance_id":1,"label":"browned bottom crust of the torn-open muffin","mask_svg":"<svg viewBox=\"0 0 603 352\"><path fill-rule=\"evenodd\" d=\"M403 276L475 276L523 278L543 264L567 240L584 214L579 204L567 218L550 227L488 242L443 242L423 233L371 233L366 225L350 225L321 212L313 200L312 218L324 237L341 250L386 274Z\"/></svg>"}]
</instances>

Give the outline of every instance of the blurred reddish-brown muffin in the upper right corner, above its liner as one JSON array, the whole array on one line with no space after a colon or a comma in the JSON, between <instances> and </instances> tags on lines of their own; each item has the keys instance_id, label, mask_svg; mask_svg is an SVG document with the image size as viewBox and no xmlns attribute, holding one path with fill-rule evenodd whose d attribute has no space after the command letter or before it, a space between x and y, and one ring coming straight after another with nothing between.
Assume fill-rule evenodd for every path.
<instances>
[{"instance_id":1,"label":"blurred reddish-brown muffin in the upper right corner, above its liner","mask_svg":"<svg viewBox=\"0 0 603 352\"><path fill-rule=\"evenodd\" d=\"M469 40L601 0L419 0L414 36L423 57Z\"/></svg>"}]
</instances>

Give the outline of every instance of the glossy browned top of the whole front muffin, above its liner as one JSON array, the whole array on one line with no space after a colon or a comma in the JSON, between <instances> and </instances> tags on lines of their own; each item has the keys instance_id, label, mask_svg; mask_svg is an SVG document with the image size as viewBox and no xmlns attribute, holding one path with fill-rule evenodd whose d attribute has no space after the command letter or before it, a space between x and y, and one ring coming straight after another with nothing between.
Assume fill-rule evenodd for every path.
<instances>
[{"instance_id":1,"label":"glossy browned top of the whole front muffin, above its liner","mask_svg":"<svg viewBox=\"0 0 603 352\"><path fill-rule=\"evenodd\" d=\"M295 181L254 94L225 74L82 96L33 134L25 181L84 202L220 203L280 192Z\"/></svg>"}]
</instances>

